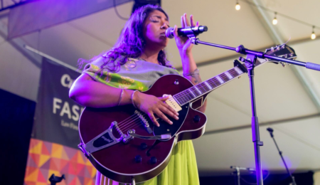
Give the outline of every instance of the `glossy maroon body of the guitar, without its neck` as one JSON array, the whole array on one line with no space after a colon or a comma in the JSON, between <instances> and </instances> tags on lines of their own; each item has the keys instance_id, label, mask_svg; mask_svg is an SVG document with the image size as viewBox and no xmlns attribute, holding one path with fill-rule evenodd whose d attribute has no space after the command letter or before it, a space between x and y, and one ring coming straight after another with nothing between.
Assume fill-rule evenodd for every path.
<instances>
[{"instance_id":1,"label":"glossy maroon body of the guitar, without its neck","mask_svg":"<svg viewBox=\"0 0 320 185\"><path fill-rule=\"evenodd\" d=\"M192 86L193 84L189 80L180 75L164 75L144 93L156 97L162 97L164 94L176 95ZM206 95L203 95L201 98L203 97L206 97ZM90 162L92 162L97 170L114 181L132 183L132 179L135 179L139 183L154 178L169 163L172 149L177 142L186 139L196 139L201 137L205 131L206 115L193 110L190 102L182 105L181 108L182 110L178 112L179 120L174 120L168 116L174 122L173 125L169 125L163 120L158 120L160 127L154 127L151 120L147 116L144 116L149 121L149 127L153 131L149 133L139 117L134 117L135 120L130 119L132 115L135 115L134 112L136 111L132 105L99 109L85 107L79 122L82 144L87 145L88 142L95 139L97 141L100 139L98 142L101 142L100 145L96 144L96 147L100 147L108 142L110 143L110 133L105 135L104 138L97 136L109 129L114 121L118 123L119 129L123 128L121 130L123 134L127 134L128 129L134 129L136 134L143 136L161 134L171 134L172 136L171 139L162 139L152 149L150 148L156 140L135 137L127 144L121 141L96 152L87 152L88 159L90 159ZM120 123L125 123L126 119L134 120L135 122L122 126ZM137 120L139 121L137 122ZM121 137L117 129L112 129L112 134L116 138ZM90 151L90 149L87 150Z\"/></svg>"}]
</instances>

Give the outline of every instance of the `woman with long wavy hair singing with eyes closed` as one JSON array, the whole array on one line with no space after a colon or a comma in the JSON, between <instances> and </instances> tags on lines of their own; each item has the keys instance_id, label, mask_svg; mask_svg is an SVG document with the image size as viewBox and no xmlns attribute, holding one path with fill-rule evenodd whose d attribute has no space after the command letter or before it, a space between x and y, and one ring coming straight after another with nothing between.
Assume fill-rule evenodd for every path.
<instances>
[{"instance_id":1,"label":"woman with long wavy hair singing with eyes closed","mask_svg":"<svg viewBox=\"0 0 320 185\"><path fill-rule=\"evenodd\" d=\"M193 16L189 23L186 14L181 26L198 26ZM178 74L166 60L164 48L169 42L165 36L169 17L158 6L143 6L129 18L118 43L102 56L93 58L70 89L70 98L85 107L115 107L133 104L159 127L156 117L172 124L166 115L178 120L178 112L164 102L168 97L155 97L141 93L148 90L162 75ZM178 36L174 26L176 46L181 56L183 76L196 85L201 83L193 60L193 44L188 37ZM204 112L206 102L198 110ZM166 115L165 115L166 114ZM178 142L166 169L154 179L142 184L186 185L199 184L196 156L191 140ZM98 176L98 175L97 175ZM97 184L119 184L107 177Z\"/></svg>"}]
</instances>

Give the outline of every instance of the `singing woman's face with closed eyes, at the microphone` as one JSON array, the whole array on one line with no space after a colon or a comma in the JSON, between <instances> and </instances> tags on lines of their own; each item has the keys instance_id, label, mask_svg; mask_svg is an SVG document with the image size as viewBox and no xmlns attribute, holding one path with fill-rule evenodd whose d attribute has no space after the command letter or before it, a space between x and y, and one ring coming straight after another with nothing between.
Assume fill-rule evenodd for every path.
<instances>
[{"instance_id":1,"label":"singing woman's face with closed eyes, at the microphone","mask_svg":"<svg viewBox=\"0 0 320 185\"><path fill-rule=\"evenodd\" d=\"M166 15L158 10L152 11L144 21L143 35L146 46L165 48L169 42L169 38L166 38L167 28L169 28L169 20Z\"/></svg>"}]
</instances>

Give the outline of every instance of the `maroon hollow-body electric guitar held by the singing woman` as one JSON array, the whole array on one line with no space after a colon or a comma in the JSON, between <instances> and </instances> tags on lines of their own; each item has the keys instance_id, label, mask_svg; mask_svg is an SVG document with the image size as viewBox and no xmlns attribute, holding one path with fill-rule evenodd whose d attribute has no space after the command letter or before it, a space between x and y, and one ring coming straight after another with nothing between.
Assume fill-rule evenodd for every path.
<instances>
[{"instance_id":1,"label":"maroon hollow-body electric guitar held by the singing woman","mask_svg":"<svg viewBox=\"0 0 320 185\"><path fill-rule=\"evenodd\" d=\"M268 55L296 58L294 50L282 45L266 51ZM255 66L267 63L257 59ZM211 91L247 72L245 64L235 60L235 67L198 85L180 75L164 75L143 92L162 97L179 113L179 120L167 116L173 125L159 119L160 127L132 105L110 108L85 107L79 121L79 148L95 168L108 178L122 183L137 183L154 178L169 163L174 146L186 139L196 139L205 132L206 115L193 107L203 102Z\"/></svg>"}]
</instances>

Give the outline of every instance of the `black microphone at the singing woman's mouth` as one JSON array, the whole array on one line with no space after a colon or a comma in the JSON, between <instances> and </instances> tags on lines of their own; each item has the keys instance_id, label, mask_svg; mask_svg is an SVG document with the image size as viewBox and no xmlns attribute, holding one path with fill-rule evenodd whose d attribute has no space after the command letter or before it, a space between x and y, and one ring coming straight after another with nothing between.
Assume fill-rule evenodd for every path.
<instances>
[{"instance_id":1,"label":"black microphone at the singing woman's mouth","mask_svg":"<svg viewBox=\"0 0 320 185\"><path fill-rule=\"evenodd\" d=\"M178 28L178 36L198 36L204 31L208 31L207 26L188 26L186 28ZM174 28L166 29L166 37L174 38Z\"/></svg>"}]
</instances>

